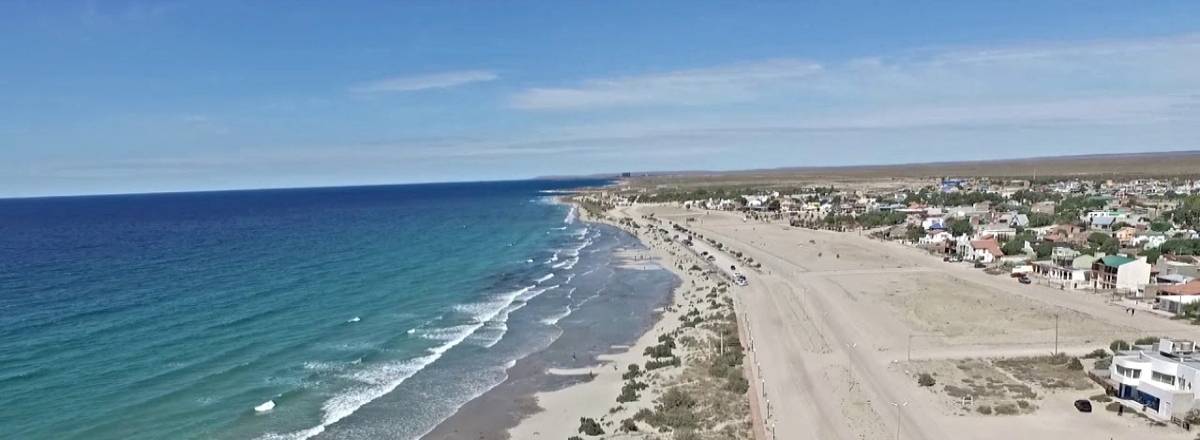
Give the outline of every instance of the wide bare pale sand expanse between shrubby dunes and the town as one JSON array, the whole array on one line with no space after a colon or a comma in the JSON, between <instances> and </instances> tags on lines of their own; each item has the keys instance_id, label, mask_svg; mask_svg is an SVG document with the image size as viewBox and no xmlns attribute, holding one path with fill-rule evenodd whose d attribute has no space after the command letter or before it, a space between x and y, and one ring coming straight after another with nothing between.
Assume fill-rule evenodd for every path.
<instances>
[{"instance_id":1,"label":"wide bare pale sand expanse between shrubby dunes and the town","mask_svg":"<svg viewBox=\"0 0 1200 440\"><path fill-rule=\"evenodd\" d=\"M769 400L762 423L775 439L1146 435L1150 428L1136 417L1074 411L1070 400L1086 396L1069 393L1044 396L1043 408L1028 415L954 415L916 384L907 362L1048 355L1056 346L1081 355L1115 338L1152 334L1200 338L1196 326L1148 313L1130 317L1099 295L1018 284L853 233L673 205L617 212L649 215L762 265L742 270L750 284L736 291ZM1177 428L1154 428L1153 435L1189 438Z\"/></svg>"}]
</instances>

